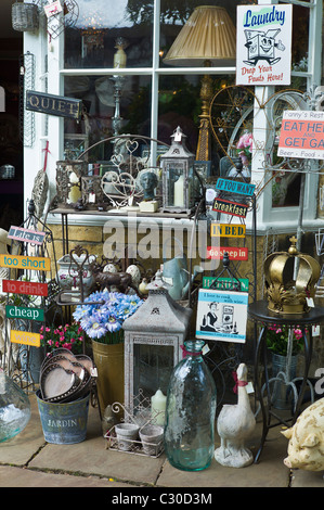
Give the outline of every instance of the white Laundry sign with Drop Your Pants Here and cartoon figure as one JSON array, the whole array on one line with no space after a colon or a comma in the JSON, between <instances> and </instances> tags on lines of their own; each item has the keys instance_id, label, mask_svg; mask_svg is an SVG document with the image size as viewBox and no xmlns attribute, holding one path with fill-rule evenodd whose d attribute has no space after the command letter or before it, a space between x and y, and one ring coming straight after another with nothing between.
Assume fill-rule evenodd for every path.
<instances>
[{"instance_id":1,"label":"white Laundry sign with Drop Your Pants Here and cartoon figure","mask_svg":"<svg viewBox=\"0 0 324 510\"><path fill-rule=\"evenodd\" d=\"M291 4L238 5L236 85L290 85Z\"/></svg>"}]
</instances>

